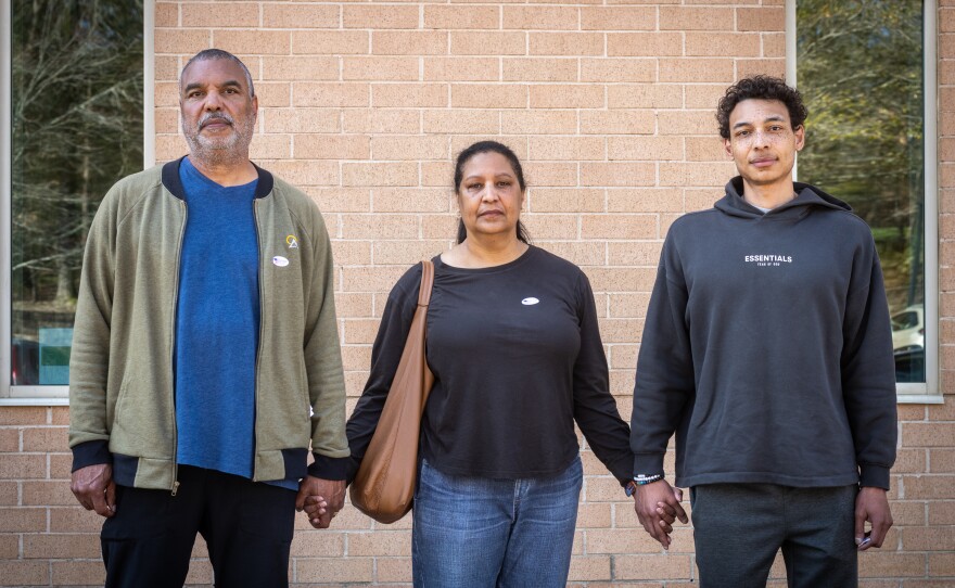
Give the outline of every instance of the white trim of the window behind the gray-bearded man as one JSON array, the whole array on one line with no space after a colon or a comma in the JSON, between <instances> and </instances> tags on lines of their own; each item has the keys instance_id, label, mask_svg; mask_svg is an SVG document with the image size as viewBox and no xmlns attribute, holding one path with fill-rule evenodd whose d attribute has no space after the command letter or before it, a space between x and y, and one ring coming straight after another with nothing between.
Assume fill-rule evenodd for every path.
<instances>
[{"instance_id":1,"label":"white trim of the window behind the gray-bearded man","mask_svg":"<svg viewBox=\"0 0 955 588\"><path fill-rule=\"evenodd\" d=\"M10 0L0 0L0 406L64 406L69 386L13 386L10 384L11 321L13 318L11 252L12 127L12 17ZM142 2L143 169L155 165L155 0Z\"/></svg>"}]
</instances>

